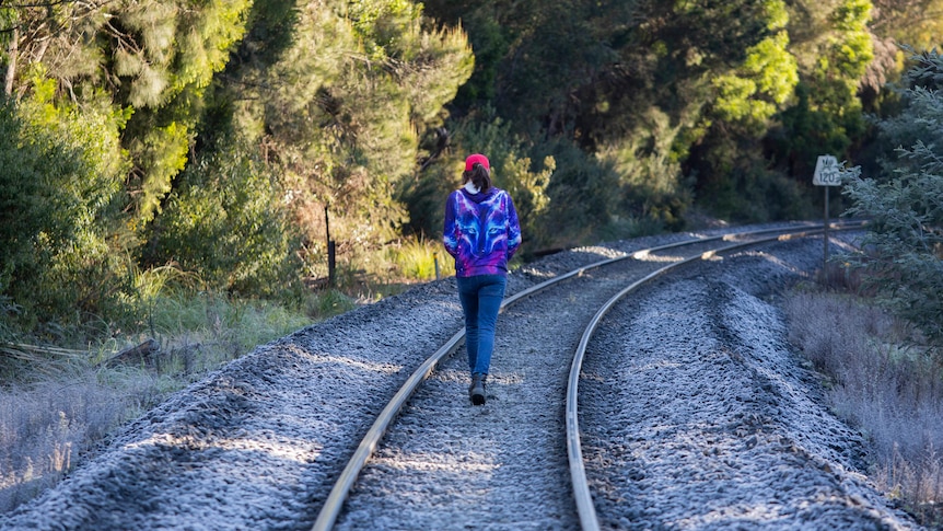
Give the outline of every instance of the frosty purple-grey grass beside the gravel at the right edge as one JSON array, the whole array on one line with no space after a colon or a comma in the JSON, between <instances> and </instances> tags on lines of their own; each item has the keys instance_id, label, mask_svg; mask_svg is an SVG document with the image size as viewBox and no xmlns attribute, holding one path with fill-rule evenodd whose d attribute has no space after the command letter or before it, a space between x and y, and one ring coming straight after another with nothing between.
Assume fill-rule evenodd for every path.
<instances>
[{"instance_id":1,"label":"frosty purple-grey grass beside the gravel at the right edge","mask_svg":"<svg viewBox=\"0 0 943 531\"><path fill-rule=\"evenodd\" d=\"M943 527L943 363L899 319L837 293L801 292L790 339L831 380L834 409L872 441L871 476L928 527Z\"/></svg>"}]
</instances>

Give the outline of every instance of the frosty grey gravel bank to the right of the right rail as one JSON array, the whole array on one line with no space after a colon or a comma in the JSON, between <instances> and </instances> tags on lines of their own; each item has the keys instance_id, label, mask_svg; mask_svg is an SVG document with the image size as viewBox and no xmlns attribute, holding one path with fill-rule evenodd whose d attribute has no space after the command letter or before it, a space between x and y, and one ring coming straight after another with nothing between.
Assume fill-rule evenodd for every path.
<instances>
[{"instance_id":1,"label":"frosty grey gravel bank to the right of the right rail","mask_svg":"<svg viewBox=\"0 0 943 531\"><path fill-rule=\"evenodd\" d=\"M581 409L605 404L581 423L604 529L918 528L869 484L865 440L765 300L805 246L692 267L606 316L581 384Z\"/></svg>"}]
</instances>

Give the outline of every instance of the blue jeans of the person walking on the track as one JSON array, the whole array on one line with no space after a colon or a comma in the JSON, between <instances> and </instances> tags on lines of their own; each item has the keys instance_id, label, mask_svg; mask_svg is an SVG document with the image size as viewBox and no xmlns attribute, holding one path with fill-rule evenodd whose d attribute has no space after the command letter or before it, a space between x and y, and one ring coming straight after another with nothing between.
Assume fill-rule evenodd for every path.
<instances>
[{"instance_id":1,"label":"blue jeans of the person walking on the track","mask_svg":"<svg viewBox=\"0 0 943 531\"><path fill-rule=\"evenodd\" d=\"M504 275L477 275L455 277L458 282L458 299L465 312L465 349L468 351L468 369L473 374L487 374L494 351L494 328L498 310L504 299Z\"/></svg>"}]
</instances>

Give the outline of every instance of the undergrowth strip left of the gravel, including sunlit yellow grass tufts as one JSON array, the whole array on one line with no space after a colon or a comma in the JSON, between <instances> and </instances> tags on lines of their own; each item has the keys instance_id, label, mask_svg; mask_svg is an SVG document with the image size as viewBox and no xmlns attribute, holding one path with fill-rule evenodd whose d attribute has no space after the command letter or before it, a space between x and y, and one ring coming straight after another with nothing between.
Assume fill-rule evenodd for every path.
<instances>
[{"instance_id":1,"label":"undergrowth strip left of the gravel, including sunlit yellow grass tufts","mask_svg":"<svg viewBox=\"0 0 943 531\"><path fill-rule=\"evenodd\" d=\"M118 319L28 332L21 309L0 298L0 512L55 486L117 427L256 345L454 273L438 242L415 240L338 264L334 286L322 279L284 300L214 292L163 266L136 273L137 298ZM148 348L116 361L136 346Z\"/></svg>"}]
</instances>

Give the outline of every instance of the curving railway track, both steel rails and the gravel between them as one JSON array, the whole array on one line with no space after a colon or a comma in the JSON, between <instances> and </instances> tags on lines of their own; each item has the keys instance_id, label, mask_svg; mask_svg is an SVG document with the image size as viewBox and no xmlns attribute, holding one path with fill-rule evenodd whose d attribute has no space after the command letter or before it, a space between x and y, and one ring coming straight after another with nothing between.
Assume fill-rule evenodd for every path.
<instances>
[{"instance_id":1,"label":"curving railway track, both steel rails and the gravel between them","mask_svg":"<svg viewBox=\"0 0 943 531\"><path fill-rule=\"evenodd\" d=\"M578 403L583 358L604 316L678 266L820 232L677 242L580 267L508 298L488 404L480 411L467 404L464 351L450 358L461 350L459 331L377 417L313 529L599 529Z\"/></svg>"}]
</instances>

